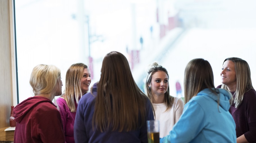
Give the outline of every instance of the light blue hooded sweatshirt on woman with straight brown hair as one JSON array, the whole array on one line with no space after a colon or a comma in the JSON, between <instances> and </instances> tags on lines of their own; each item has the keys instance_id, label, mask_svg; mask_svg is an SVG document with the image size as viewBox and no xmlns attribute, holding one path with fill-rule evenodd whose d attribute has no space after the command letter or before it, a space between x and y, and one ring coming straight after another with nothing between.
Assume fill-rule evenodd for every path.
<instances>
[{"instance_id":1,"label":"light blue hooded sweatshirt on woman with straight brown hair","mask_svg":"<svg viewBox=\"0 0 256 143\"><path fill-rule=\"evenodd\" d=\"M184 106L180 120L160 142L236 142L236 124L230 115L231 93L225 89L200 91ZM161 123L160 123L161 124Z\"/></svg>"}]
</instances>

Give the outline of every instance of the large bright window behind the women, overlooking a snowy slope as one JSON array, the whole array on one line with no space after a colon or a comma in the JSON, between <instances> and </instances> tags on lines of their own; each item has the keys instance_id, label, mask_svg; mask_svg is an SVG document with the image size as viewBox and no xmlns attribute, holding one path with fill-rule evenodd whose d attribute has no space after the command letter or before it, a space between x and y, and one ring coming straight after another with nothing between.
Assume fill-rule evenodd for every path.
<instances>
[{"instance_id":1,"label":"large bright window behind the women, overlooking a snowy slope","mask_svg":"<svg viewBox=\"0 0 256 143\"><path fill-rule=\"evenodd\" d=\"M254 0L17 0L19 102L33 95L29 78L34 66L59 67L64 89L68 67L85 63L94 84L110 51L127 57L141 90L145 70L157 61L169 72L170 94L184 96L176 95L175 85L183 89L184 69L193 58L211 63L216 86L224 59L242 58L254 85L255 5Z\"/></svg>"}]
</instances>

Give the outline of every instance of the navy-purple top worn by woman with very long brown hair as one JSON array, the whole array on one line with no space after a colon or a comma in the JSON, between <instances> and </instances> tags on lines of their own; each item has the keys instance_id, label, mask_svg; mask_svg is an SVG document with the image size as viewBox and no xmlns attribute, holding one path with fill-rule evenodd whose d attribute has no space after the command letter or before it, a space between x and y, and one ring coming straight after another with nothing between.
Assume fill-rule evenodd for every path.
<instances>
[{"instance_id":1,"label":"navy-purple top worn by woman with very long brown hair","mask_svg":"<svg viewBox=\"0 0 256 143\"><path fill-rule=\"evenodd\" d=\"M93 85L92 93L85 94L80 100L76 113L74 124L75 141L82 143L147 143L147 125L146 121L141 128L130 132L112 131L108 128L105 132L92 128L92 118L95 107L95 95L97 95L97 85ZM146 103L146 120L154 120L152 105L149 99L145 98ZM131 105L132 106L132 105ZM141 120L139 120L141 121ZM111 125L110 125L111 126Z\"/></svg>"}]
</instances>

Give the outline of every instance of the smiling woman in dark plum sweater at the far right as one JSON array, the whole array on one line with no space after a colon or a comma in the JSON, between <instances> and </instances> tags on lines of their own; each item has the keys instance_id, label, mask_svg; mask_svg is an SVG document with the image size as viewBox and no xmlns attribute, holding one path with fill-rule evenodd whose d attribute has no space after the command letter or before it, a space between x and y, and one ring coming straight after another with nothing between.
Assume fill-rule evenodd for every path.
<instances>
[{"instance_id":1,"label":"smiling woman in dark plum sweater at the far right","mask_svg":"<svg viewBox=\"0 0 256 143\"><path fill-rule=\"evenodd\" d=\"M256 142L256 91L248 63L240 58L225 59L221 82L217 88L227 89L233 94L229 112L236 123L237 143Z\"/></svg>"}]
</instances>

